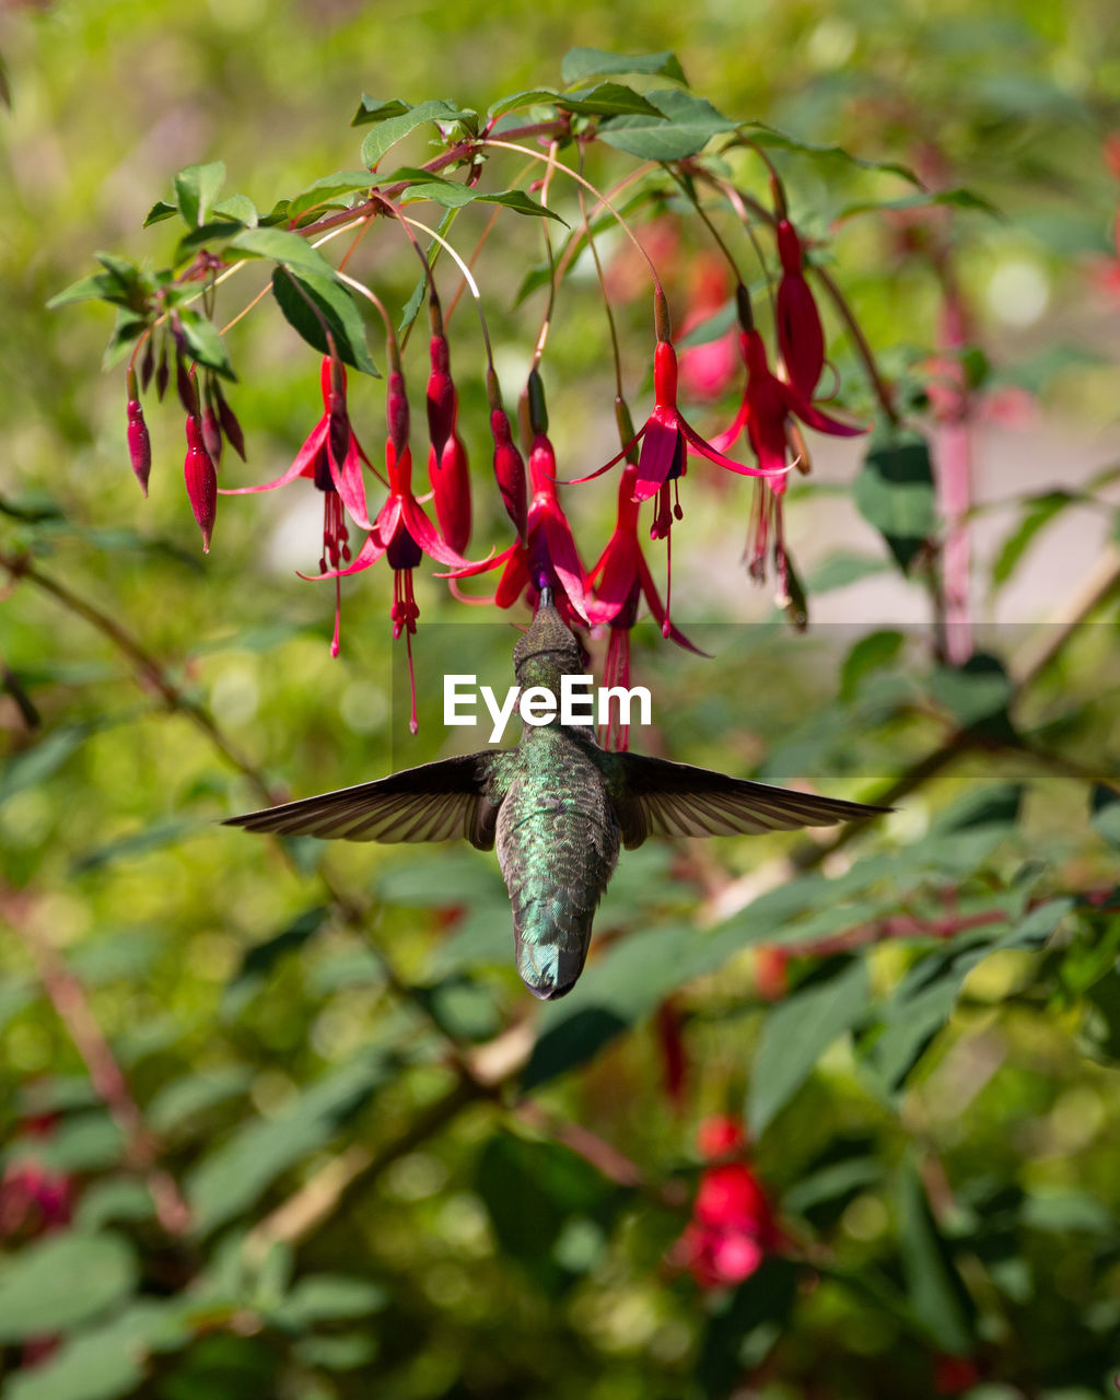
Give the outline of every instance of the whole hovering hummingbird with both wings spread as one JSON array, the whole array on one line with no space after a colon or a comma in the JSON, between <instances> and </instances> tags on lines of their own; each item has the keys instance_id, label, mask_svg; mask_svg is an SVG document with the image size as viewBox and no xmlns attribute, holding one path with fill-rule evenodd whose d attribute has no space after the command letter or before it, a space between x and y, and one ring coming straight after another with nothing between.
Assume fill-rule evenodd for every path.
<instances>
[{"instance_id":1,"label":"whole hovering hummingbird with both wings spread","mask_svg":"<svg viewBox=\"0 0 1120 1400\"><path fill-rule=\"evenodd\" d=\"M560 694L584 673L580 643L549 589L514 647L518 685ZM888 811L732 778L713 769L612 753L591 728L524 725L515 749L423 763L375 783L234 816L227 826L347 841L497 844L514 909L517 970L535 997L575 986L591 921L619 860L648 836L732 836L830 826Z\"/></svg>"}]
</instances>

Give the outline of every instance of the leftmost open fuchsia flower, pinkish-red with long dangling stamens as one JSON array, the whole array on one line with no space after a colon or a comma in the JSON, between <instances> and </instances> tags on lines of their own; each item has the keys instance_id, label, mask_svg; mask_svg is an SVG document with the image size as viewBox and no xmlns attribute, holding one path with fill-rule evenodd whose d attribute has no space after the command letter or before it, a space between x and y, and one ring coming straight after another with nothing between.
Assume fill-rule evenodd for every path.
<instances>
[{"instance_id":1,"label":"leftmost open fuchsia flower, pinkish-red with long dangling stamens","mask_svg":"<svg viewBox=\"0 0 1120 1400\"><path fill-rule=\"evenodd\" d=\"M319 573L337 570L340 563L350 560L350 535L346 528L346 512L361 529L370 529L365 514L365 484L361 475L364 462L371 470L372 463L361 448L346 409L346 370L329 356L323 357L319 368L319 385L323 396L323 416L308 433L304 445L295 454L291 466L276 477L274 482L265 482L262 486L238 486L234 490L223 490L220 496L248 496L256 491L274 491L279 486L287 486L297 476L309 477L323 494L323 552L319 557ZM241 452L241 430L231 434L230 424L223 414L225 400L220 399L218 413L225 435L234 448ZM228 410L227 410L228 412ZM232 417L232 414L230 414ZM232 426L237 424L234 419ZM241 452L244 456L244 452ZM330 655L339 654L339 630L342 623L342 585L335 582L335 636L330 640Z\"/></svg>"}]
</instances>

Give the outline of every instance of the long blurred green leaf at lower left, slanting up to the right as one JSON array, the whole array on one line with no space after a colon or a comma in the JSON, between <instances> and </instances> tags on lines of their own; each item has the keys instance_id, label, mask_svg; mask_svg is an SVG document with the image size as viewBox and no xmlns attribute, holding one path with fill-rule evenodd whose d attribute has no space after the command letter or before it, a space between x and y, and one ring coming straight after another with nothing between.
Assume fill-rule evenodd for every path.
<instances>
[{"instance_id":1,"label":"long blurred green leaf at lower left, slanting up to the right","mask_svg":"<svg viewBox=\"0 0 1120 1400\"><path fill-rule=\"evenodd\" d=\"M214 1148L186 1183L196 1232L235 1219L277 1176L323 1148L391 1070L388 1056L367 1051L314 1084L280 1117L253 1119Z\"/></svg>"}]
</instances>

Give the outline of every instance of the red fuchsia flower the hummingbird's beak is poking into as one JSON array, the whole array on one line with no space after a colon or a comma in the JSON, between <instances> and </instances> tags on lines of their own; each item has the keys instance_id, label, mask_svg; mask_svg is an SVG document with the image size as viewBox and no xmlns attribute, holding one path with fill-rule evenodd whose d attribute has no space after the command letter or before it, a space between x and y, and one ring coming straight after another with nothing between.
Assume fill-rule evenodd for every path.
<instances>
[{"instance_id":1,"label":"red fuchsia flower the hummingbird's beak is poking into","mask_svg":"<svg viewBox=\"0 0 1120 1400\"><path fill-rule=\"evenodd\" d=\"M498 608L512 608L524 595L529 606L536 609L540 589L552 588L553 602L564 622L568 626L587 626L589 617L584 596L584 566L556 494L556 454L545 433L536 434L529 452L529 483L533 496L529 501L525 538L514 540L496 559L469 564L440 577L469 578L503 567L498 587L491 598L468 598L458 591L456 596L465 602L493 602Z\"/></svg>"}]
</instances>

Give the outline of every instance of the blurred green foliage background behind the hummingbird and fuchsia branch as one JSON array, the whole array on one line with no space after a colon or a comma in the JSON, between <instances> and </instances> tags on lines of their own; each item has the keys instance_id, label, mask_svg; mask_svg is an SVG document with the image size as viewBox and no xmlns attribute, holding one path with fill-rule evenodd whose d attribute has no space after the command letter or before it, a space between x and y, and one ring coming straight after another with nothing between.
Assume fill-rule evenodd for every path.
<instances>
[{"instance_id":1,"label":"blurred green foliage background behind the hummingbird and fuchsia branch","mask_svg":"<svg viewBox=\"0 0 1120 1400\"><path fill-rule=\"evenodd\" d=\"M1106 0L3 7L6 1396L1113 1393L1119 31ZM330 659L329 589L294 574L318 557L318 497L223 500L203 557L178 407L150 413L143 501L123 367L99 368L109 316L45 302L94 249L158 266L167 225L140 224L183 165L224 160L227 190L267 209L357 164L363 91L484 109L557 84L573 45L672 49L721 111L998 209L837 223L909 190L774 155L794 217L834 234L829 267L935 468L924 392L949 284L967 309L972 608L994 661L932 655L921 577L851 500L862 441L818 440L792 494L806 636L739 564L745 483L690 472L675 615L715 659L638 627L658 732L636 746L900 811L834 848L825 832L626 855L584 980L542 1008L493 858L281 850L216 825L262 784L360 781L442 736L427 715L405 734L377 570L347 584ZM536 223L501 227L483 290L512 405L542 309L514 293L542 253ZM703 244L692 230L668 258L679 318ZM409 256L371 265L396 305ZM477 557L508 536L468 309L452 350ZM648 403L644 287L620 316ZM868 420L832 312L826 329ZM248 484L318 417L318 364L269 305L230 339ZM410 364L416 396L420 337ZM561 466L605 461L612 372L584 276L545 368ZM381 392L351 396L371 455ZM734 388L697 421L732 406ZM588 563L613 490L570 493ZM507 619L417 588L421 700L456 654L504 685ZM781 1240L708 1289L676 1242L697 1126L724 1113L746 1116Z\"/></svg>"}]
</instances>

